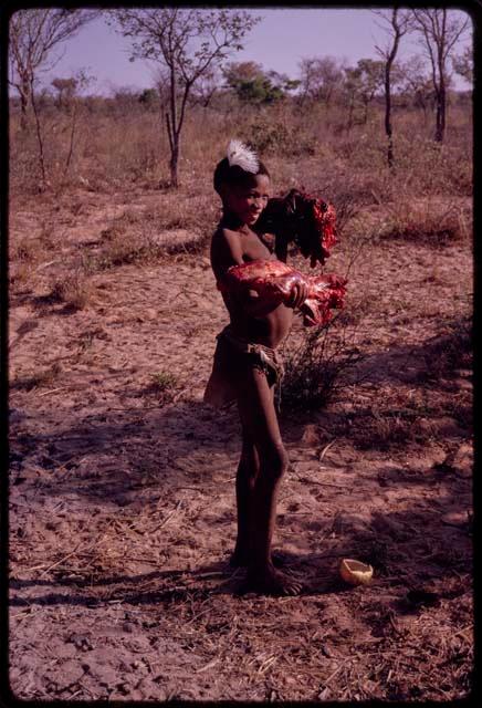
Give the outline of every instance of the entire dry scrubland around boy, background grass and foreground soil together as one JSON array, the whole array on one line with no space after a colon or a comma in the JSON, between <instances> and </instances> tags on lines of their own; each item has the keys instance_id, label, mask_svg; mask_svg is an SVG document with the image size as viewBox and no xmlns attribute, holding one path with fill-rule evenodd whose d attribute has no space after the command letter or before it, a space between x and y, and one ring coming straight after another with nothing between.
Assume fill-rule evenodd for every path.
<instances>
[{"instance_id":1,"label":"entire dry scrubland around boy, background grass and foreground soil together","mask_svg":"<svg viewBox=\"0 0 482 708\"><path fill-rule=\"evenodd\" d=\"M28 699L453 700L472 690L472 116L85 100L10 122L10 681ZM202 405L227 322L216 163L333 201L326 329L296 321L275 545L300 597L235 594L235 410ZM301 256L292 262L308 270ZM342 558L374 566L349 587Z\"/></svg>"}]
</instances>

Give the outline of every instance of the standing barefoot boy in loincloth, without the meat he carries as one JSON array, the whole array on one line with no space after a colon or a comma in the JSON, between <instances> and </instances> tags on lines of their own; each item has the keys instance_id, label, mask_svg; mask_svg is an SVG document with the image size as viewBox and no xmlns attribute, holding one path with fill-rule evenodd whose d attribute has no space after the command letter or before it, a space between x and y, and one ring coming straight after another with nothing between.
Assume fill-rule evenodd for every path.
<instances>
[{"instance_id":1,"label":"standing barefoot boy in loincloth, without the meat he carries","mask_svg":"<svg viewBox=\"0 0 482 708\"><path fill-rule=\"evenodd\" d=\"M214 170L214 189L223 214L211 241L211 266L222 281L231 266L259 259L286 260L285 244L274 252L268 237L253 228L266 206L270 175L256 155L238 140ZM266 305L258 293L222 293L230 324L218 345L205 400L221 407L237 400L242 426L242 451L237 473L238 538L231 565L248 566L245 590L266 594L297 594L301 584L275 570L271 543L276 493L286 471L274 387L282 376L276 347L287 336L293 311L306 299L306 287L293 285L290 302Z\"/></svg>"}]
</instances>

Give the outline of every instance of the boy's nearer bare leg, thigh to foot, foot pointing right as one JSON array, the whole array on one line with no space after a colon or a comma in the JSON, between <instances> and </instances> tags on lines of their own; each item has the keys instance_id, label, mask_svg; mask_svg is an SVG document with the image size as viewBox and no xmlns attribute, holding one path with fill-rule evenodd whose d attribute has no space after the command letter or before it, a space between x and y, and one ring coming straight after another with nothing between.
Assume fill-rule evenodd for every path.
<instances>
[{"instance_id":1,"label":"boy's nearer bare leg, thigh to foot, foot pointing right","mask_svg":"<svg viewBox=\"0 0 482 708\"><path fill-rule=\"evenodd\" d=\"M249 504L250 558L248 582L253 590L295 594L301 585L274 570L271 542L276 517L276 493L287 467L274 407L274 389L256 368L239 372L238 407L243 431L259 455L259 473Z\"/></svg>"}]
</instances>

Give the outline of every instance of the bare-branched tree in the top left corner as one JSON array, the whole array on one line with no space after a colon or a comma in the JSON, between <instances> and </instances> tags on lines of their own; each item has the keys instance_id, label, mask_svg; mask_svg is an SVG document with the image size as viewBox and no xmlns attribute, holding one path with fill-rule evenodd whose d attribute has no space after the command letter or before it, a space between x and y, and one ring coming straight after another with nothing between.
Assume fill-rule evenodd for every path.
<instances>
[{"instance_id":1,"label":"bare-branched tree in the top left corner","mask_svg":"<svg viewBox=\"0 0 482 708\"><path fill-rule=\"evenodd\" d=\"M52 52L97 15L98 10L60 9L18 10L12 14L9 28L9 83L20 95L22 128L27 127L28 107L38 72L52 69L60 59L52 56Z\"/></svg>"}]
</instances>

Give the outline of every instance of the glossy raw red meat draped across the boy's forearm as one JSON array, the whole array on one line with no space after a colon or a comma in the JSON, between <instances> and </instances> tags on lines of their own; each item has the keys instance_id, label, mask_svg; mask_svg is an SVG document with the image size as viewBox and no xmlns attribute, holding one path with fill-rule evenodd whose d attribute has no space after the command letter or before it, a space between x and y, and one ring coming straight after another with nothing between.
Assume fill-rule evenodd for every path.
<instances>
[{"instance_id":1,"label":"glossy raw red meat draped across the boy's forearm","mask_svg":"<svg viewBox=\"0 0 482 708\"><path fill-rule=\"evenodd\" d=\"M241 266L231 266L222 281L221 292L245 292L254 290L260 298L273 306L290 300L293 285L305 283L308 296L302 303L305 326L323 325L332 319L332 309L343 308L346 280L335 274L305 275L279 260L256 260Z\"/></svg>"}]
</instances>

